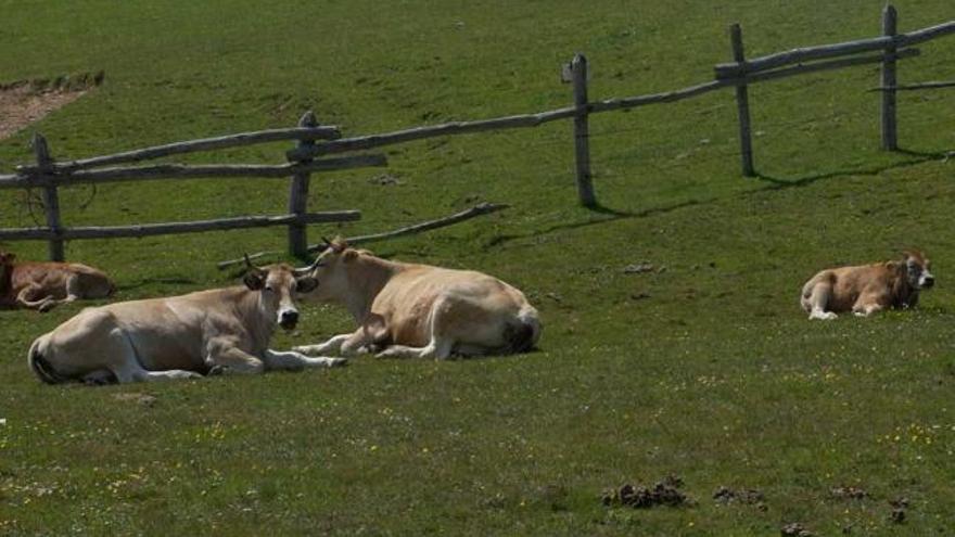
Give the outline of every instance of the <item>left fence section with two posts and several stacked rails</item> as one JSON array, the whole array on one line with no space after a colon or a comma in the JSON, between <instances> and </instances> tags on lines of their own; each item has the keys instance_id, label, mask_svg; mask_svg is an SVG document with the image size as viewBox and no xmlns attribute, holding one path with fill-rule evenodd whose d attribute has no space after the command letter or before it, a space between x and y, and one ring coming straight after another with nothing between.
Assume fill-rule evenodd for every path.
<instances>
[{"instance_id":1,"label":"left fence section with two posts and several stacked rails","mask_svg":"<svg viewBox=\"0 0 955 537\"><path fill-rule=\"evenodd\" d=\"M17 166L16 174L0 176L0 189L42 189L47 226L37 228L0 229L0 240L43 240L49 243L52 260L63 260L64 241L82 239L142 238L161 234L198 233L205 231L286 226L290 252L308 253L305 227L309 223L353 221L361 218L358 210L309 213L307 209L308 181L313 174L367 166L384 166L387 161L379 154L358 154L335 158L311 157L279 165L184 165L157 164L150 166L112 166L138 163L153 158L212 151L283 140L296 140L297 146L308 146L315 140L334 140L341 137L334 127L319 127L308 112L296 128L176 142L136 151L97 156L78 161L55 162L42 135L33 139L35 165ZM289 214L277 216L241 216L182 222L143 223L131 226L64 227L60 213L59 188L75 184L99 184L116 181L219 179L219 178L291 178Z\"/></svg>"}]
</instances>

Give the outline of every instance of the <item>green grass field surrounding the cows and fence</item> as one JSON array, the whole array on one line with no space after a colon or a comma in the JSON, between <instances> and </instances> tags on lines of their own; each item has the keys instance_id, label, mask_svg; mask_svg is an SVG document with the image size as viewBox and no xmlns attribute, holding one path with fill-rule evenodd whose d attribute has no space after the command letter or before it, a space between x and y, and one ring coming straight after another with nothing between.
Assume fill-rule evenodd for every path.
<instances>
[{"instance_id":1,"label":"green grass field surrounding the cows and fence","mask_svg":"<svg viewBox=\"0 0 955 537\"><path fill-rule=\"evenodd\" d=\"M952 18L900 0L900 30ZM106 73L39 130L73 158L290 127L308 108L346 136L537 112L571 102L560 65L587 54L591 99L702 82L748 54L871 37L882 2L0 1L0 82ZM955 38L900 62L900 81L951 78ZM370 245L467 267L524 290L539 351L102 388L47 386L26 367L75 315L0 312L0 535L816 535L955 532L953 90L900 94L900 143L878 150L878 68L750 90L756 179L739 175L730 90L594 116L599 210L577 206L568 122L386 149L387 169L313 179L313 209L355 235L478 201L506 212ZM279 163L290 144L187 162ZM176 161L181 162L181 161ZM375 178L391 174L397 184ZM85 208L80 206L92 197ZM288 180L152 181L62 189L66 225L285 210ZM34 220L0 192L0 227ZM230 285L216 261L282 248L284 229L77 241L117 299ZM44 243L8 243L42 259ZM802 283L839 264L933 260L914 311L808 322ZM632 264L658 270L626 273ZM304 306L275 347L346 331ZM131 395L129 395L131 394ZM142 396L154 397L149 404ZM608 508L624 483L683 480L685 507ZM720 486L763 508L722 504ZM864 499L830 489L854 486ZM907 498L904 524L890 500Z\"/></svg>"}]
</instances>

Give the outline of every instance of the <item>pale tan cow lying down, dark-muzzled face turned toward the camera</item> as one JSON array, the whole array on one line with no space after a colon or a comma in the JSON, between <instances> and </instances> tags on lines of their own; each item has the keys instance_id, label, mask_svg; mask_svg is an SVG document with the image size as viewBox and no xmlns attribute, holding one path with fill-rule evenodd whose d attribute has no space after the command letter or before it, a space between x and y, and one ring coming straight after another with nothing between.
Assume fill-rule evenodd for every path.
<instances>
[{"instance_id":1,"label":"pale tan cow lying down, dark-muzzled face turned toward the camera","mask_svg":"<svg viewBox=\"0 0 955 537\"><path fill-rule=\"evenodd\" d=\"M288 265L260 269L250 264L244 282L244 286L84 309L34 342L29 366L40 380L53 384L344 363L268 348L276 324L295 328L298 310L293 297L314 289L314 278L296 278Z\"/></svg>"}]
</instances>

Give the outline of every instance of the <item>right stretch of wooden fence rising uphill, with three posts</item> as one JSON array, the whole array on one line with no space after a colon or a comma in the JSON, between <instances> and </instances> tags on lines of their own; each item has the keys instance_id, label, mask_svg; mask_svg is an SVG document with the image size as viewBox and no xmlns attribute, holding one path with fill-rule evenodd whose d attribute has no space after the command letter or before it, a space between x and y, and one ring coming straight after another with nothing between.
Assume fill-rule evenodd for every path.
<instances>
[{"instance_id":1,"label":"right stretch of wooden fence rising uphill, with three posts","mask_svg":"<svg viewBox=\"0 0 955 537\"><path fill-rule=\"evenodd\" d=\"M572 106L539 112L536 114L522 114L479 122L446 123L381 135L323 141L309 145L308 148L297 148L290 151L288 156L291 159L296 159L308 156L379 148L382 145L421 140L424 138L466 135L485 130L537 127L545 123L573 118L576 157L575 168L580 202L586 206L594 206L597 204L597 197L594 193L591 182L590 153L588 146L588 116L590 114L634 108L637 106L646 106L648 104L672 103L724 88L734 88L736 91L739 117L739 143L742 174L751 177L755 175L755 166L753 165L752 127L748 93L750 85L767 80L777 80L795 75L877 63L882 64L881 84L879 88L876 88L882 93L882 148L889 151L894 151L897 149L895 123L897 110L895 92L901 90L933 89L955 86L955 82L927 82L908 86L896 85L896 62L917 56L920 53L918 49L911 47L941 36L955 34L955 21L911 31L908 34L897 34L895 31L896 18L895 9L892 5L887 5L882 13L883 35L880 37L836 44L792 49L749 60L747 60L743 50L742 29L738 24L734 24L729 28L733 62L716 65L714 69L714 80L664 93L651 93L606 101L588 100L587 59L582 54L577 54L573 61L563 67L562 71L563 80L573 85L574 104ZM865 54L866 52L873 51L879 52L875 54Z\"/></svg>"}]
</instances>

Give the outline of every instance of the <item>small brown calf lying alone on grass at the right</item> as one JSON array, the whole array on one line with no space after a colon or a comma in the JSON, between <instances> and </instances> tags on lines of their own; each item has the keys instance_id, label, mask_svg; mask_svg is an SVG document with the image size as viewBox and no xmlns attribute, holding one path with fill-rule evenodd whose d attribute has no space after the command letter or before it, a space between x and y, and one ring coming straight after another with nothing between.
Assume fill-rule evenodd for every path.
<instances>
[{"instance_id":1,"label":"small brown calf lying alone on grass at the right","mask_svg":"<svg viewBox=\"0 0 955 537\"><path fill-rule=\"evenodd\" d=\"M852 311L869 316L886 308L912 308L918 292L935 279L921 252L903 254L902 260L823 270L802 287L800 303L810 319L835 319Z\"/></svg>"}]
</instances>

